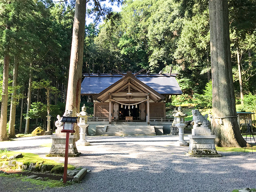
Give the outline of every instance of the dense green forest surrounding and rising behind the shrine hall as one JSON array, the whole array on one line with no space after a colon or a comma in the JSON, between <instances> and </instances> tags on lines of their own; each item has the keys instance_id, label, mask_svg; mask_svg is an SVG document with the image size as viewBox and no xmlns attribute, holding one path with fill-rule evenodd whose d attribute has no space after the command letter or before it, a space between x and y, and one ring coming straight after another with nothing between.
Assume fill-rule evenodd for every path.
<instances>
[{"instance_id":1,"label":"dense green forest surrounding and rising behind the shrine hall","mask_svg":"<svg viewBox=\"0 0 256 192\"><path fill-rule=\"evenodd\" d=\"M113 68L169 73L172 66L184 93L173 97L172 104L211 108L208 1L127 0L121 12L101 3L87 2L86 17L94 15L95 23L85 26L83 73L109 73ZM245 102L241 110L250 111L256 110L255 4L228 1L236 100ZM73 1L0 0L1 84L4 64L9 65L7 129L15 125L15 133L28 133L45 126L47 110L54 120L63 114L74 12ZM82 97L83 103L93 113L91 98Z\"/></svg>"}]
</instances>

